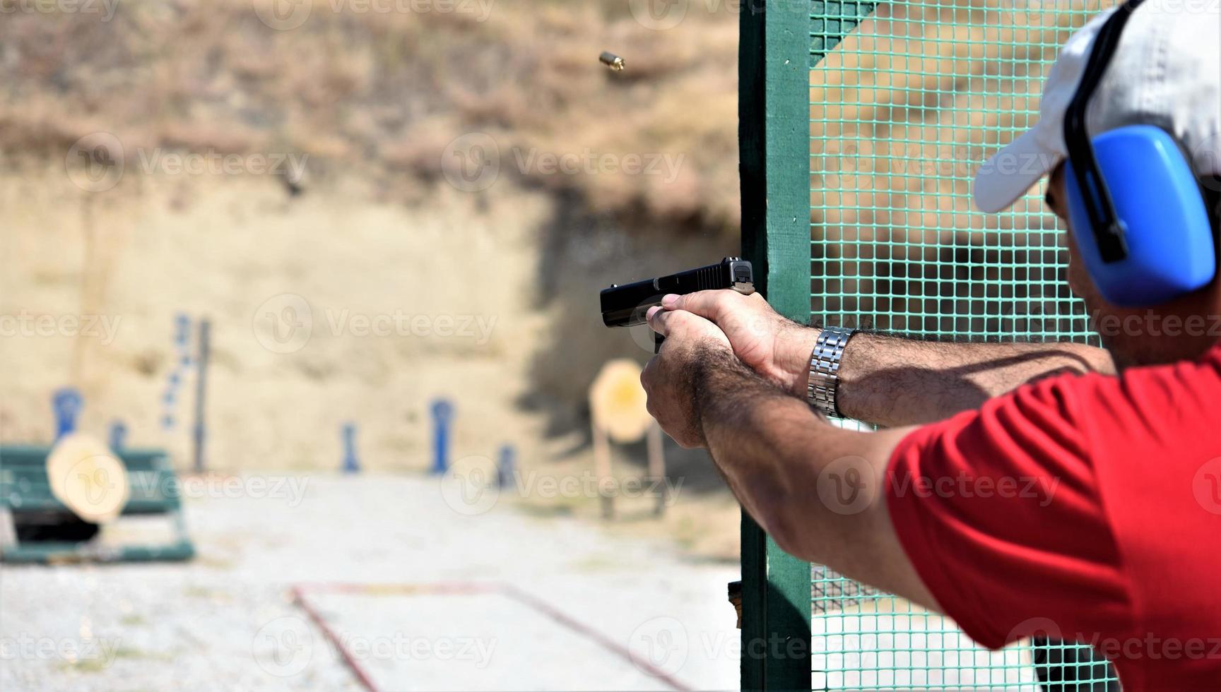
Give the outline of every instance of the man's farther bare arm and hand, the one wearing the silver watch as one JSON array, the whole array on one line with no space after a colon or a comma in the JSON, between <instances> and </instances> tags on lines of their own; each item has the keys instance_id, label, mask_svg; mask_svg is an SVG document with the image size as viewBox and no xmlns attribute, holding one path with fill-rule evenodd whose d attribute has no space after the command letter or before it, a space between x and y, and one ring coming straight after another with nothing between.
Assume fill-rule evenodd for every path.
<instances>
[{"instance_id":1,"label":"man's farther bare arm and hand, the one wearing the silver watch","mask_svg":"<svg viewBox=\"0 0 1221 692\"><path fill-rule=\"evenodd\" d=\"M726 290L667 297L664 305L711 320L744 362L805 398L818 328L784 319L758 295ZM1115 365L1105 350L1073 343L945 343L858 333L844 350L838 402L857 420L916 425L1063 372L1114 373Z\"/></svg>"}]
</instances>

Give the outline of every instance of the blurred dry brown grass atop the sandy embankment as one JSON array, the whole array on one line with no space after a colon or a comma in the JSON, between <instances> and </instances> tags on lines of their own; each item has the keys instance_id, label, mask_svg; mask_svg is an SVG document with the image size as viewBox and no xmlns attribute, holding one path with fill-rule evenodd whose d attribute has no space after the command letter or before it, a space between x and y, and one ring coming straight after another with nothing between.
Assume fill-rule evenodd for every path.
<instances>
[{"instance_id":1,"label":"blurred dry brown grass atop the sandy embankment","mask_svg":"<svg viewBox=\"0 0 1221 692\"><path fill-rule=\"evenodd\" d=\"M411 201L404 188L419 186L403 177L437 177L448 143L487 132L505 159L681 156L672 181L502 168L602 210L735 225L735 15L696 4L653 32L613 0L501 0L486 21L333 5L317 0L293 31L265 26L249 0L125 2L110 22L6 16L0 151L62 156L106 131L125 148L303 153L315 177L368 170L387 199ZM629 70L598 65L603 49Z\"/></svg>"}]
</instances>

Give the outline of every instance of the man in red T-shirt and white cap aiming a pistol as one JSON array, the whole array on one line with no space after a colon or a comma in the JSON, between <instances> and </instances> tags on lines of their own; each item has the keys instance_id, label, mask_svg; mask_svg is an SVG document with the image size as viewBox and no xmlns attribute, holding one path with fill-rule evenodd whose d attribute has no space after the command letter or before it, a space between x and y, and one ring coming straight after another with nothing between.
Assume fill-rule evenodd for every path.
<instances>
[{"instance_id":1,"label":"man in red T-shirt and white cap aiming a pistol","mask_svg":"<svg viewBox=\"0 0 1221 692\"><path fill-rule=\"evenodd\" d=\"M665 431L707 447L786 552L945 613L990 648L1082 641L1129 692L1221 690L1221 282L1114 305L1070 223L1062 123L1109 16L1068 41L1040 122L974 182L995 212L1050 176L1072 289L1118 327L1100 328L1106 350L849 334L703 292L650 312L667 339L641 380ZM1216 4L1136 9L1090 134L1155 123L1211 146L1195 173L1221 175L1219 44ZM1217 196L1201 194L1217 229ZM817 409L886 427L844 430Z\"/></svg>"}]
</instances>

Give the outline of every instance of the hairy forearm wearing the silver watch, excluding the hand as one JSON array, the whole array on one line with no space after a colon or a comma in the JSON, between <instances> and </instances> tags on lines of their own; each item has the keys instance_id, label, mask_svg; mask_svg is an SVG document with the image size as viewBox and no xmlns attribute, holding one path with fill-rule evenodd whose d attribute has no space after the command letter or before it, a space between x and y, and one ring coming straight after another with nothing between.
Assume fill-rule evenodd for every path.
<instances>
[{"instance_id":1,"label":"hairy forearm wearing the silver watch, excluding the hand","mask_svg":"<svg viewBox=\"0 0 1221 692\"><path fill-rule=\"evenodd\" d=\"M794 395L805 395L817 334L805 328L785 338L785 388ZM1105 350L1074 343L927 342L857 333L844 350L836 400L849 417L917 425L1065 372L1111 375L1115 365Z\"/></svg>"}]
</instances>

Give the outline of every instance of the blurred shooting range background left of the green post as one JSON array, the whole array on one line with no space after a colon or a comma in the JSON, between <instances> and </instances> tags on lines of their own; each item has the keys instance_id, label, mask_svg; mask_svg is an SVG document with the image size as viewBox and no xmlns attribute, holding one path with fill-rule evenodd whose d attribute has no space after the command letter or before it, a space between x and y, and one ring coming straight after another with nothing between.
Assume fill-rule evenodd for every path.
<instances>
[{"instance_id":1,"label":"blurred shooting range background left of the green post","mask_svg":"<svg viewBox=\"0 0 1221 692\"><path fill-rule=\"evenodd\" d=\"M736 686L706 455L595 478L598 289L739 247L739 6L656 5L5 5L0 686ZM16 564L65 427L143 515Z\"/></svg>"}]
</instances>

